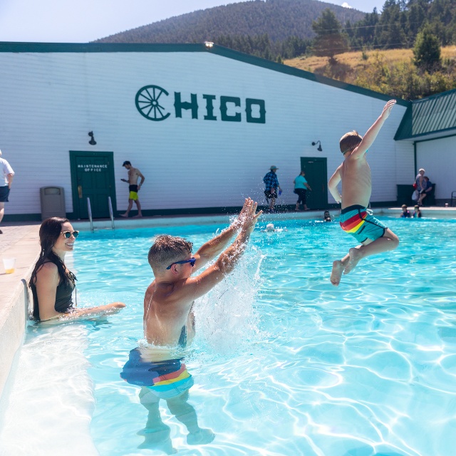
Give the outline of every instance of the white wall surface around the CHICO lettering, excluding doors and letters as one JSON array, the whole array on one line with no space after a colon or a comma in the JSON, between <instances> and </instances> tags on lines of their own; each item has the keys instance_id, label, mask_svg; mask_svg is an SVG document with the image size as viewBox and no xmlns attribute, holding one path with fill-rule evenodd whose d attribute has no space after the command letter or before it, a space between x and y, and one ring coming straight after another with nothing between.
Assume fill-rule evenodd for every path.
<instances>
[{"instance_id":1,"label":"white wall surface around the CHICO lettering, excluding doors and letters","mask_svg":"<svg viewBox=\"0 0 456 456\"><path fill-rule=\"evenodd\" d=\"M124 160L146 177L143 209L239 206L248 195L264 203L271 165L280 168L281 203L292 204L300 157L327 157L330 177L342 160L341 135L366 133L385 105L209 52L0 53L0 77L0 148L16 172L9 214L39 213L39 188L47 185L64 187L73 210L69 150L114 153L119 210L127 206ZM138 90L151 84L170 93L160 98L171 113L162 122L135 107ZM198 119L190 111L175 118L174 92L185 101L197 94ZM203 94L217 96L217 121L203 120ZM219 120L220 95L241 98L241 123ZM246 122L245 98L265 100L265 124ZM373 202L395 200L396 184L413 175L413 146L393 140L404 113L393 109L368 152ZM316 140L323 152L311 146Z\"/></svg>"}]
</instances>

